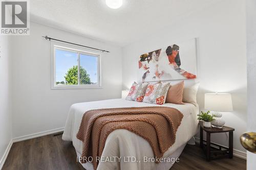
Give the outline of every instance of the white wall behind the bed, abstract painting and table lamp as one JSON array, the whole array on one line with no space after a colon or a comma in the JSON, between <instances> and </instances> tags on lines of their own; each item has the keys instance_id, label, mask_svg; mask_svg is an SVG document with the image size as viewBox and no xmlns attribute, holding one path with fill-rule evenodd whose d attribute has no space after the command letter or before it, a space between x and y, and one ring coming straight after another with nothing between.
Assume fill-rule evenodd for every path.
<instances>
[{"instance_id":1,"label":"white wall behind the bed, abstract painting and table lamp","mask_svg":"<svg viewBox=\"0 0 256 170\"><path fill-rule=\"evenodd\" d=\"M235 128L234 149L245 152L239 141L240 135L246 131L245 2L220 1L170 24L161 28L159 23L157 33L123 48L123 89L137 80L135 75L141 54L196 37L200 108L204 107L206 92L232 93L234 111L223 113L223 117L226 126ZM225 133L213 134L212 141L228 145Z\"/></svg>"}]
</instances>

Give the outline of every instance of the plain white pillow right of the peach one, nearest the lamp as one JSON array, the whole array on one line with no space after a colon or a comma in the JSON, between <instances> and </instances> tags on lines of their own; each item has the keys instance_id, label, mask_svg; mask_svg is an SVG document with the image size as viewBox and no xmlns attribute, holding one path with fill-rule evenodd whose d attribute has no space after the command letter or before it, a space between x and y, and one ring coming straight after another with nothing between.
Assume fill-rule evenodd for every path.
<instances>
[{"instance_id":1,"label":"plain white pillow right of the peach one, nearest the lamp","mask_svg":"<svg viewBox=\"0 0 256 170\"><path fill-rule=\"evenodd\" d=\"M198 90L199 84L200 82L197 82L194 85L184 87L182 102L197 105L197 90Z\"/></svg>"}]
</instances>

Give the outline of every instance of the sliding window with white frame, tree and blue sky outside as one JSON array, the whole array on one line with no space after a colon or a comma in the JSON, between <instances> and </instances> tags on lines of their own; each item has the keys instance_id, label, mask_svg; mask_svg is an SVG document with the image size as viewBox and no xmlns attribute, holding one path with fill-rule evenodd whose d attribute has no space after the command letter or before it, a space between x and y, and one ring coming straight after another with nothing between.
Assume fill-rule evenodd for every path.
<instances>
[{"instance_id":1,"label":"sliding window with white frame, tree and blue sky outside","mask_svg":"<svg viewBox=\"0 0 256 170\"><path fill-rule=\"evenodd\" d=\"M51 42L52 89L100 88L100 55Z\"/></svg>"}]
</instances>

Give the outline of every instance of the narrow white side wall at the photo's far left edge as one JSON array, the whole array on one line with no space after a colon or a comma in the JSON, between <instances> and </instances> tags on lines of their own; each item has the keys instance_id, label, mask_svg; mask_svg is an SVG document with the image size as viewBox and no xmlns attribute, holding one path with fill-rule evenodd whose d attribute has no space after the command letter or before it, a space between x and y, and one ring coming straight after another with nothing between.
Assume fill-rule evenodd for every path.
<instances>
[{"instance_id":1,"label":"narrow white side wall at the photo's far left edge","mask_svg":"<svg viewBox=\"0 0 256 170\"><path fill-rule=\"evenodd\" d=\"M12 139L10 38L0 36L0 169Z\"/></svg>"}]
</instances>

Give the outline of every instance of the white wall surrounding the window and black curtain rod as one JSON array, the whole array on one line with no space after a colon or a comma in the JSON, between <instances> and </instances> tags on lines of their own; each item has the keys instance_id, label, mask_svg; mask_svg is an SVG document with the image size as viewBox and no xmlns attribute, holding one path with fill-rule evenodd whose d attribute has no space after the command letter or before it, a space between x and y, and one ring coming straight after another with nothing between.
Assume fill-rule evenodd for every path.
<instances>
[{"instance_id":1,"label":"white wall surrounding the window and black curtain rod","mask_svg":"<svg viewBox=\"0 0 256 170\"><path fill-rule=\"evenodd\" d=\"M13 137L65 126L74 103L121 97L121 48L31 23L30 36L13 38ZM102 89L51 90L50 42L41 36L108 50L103 53Z\"/></svg>"}]
</instances>

